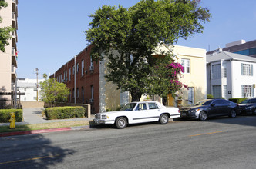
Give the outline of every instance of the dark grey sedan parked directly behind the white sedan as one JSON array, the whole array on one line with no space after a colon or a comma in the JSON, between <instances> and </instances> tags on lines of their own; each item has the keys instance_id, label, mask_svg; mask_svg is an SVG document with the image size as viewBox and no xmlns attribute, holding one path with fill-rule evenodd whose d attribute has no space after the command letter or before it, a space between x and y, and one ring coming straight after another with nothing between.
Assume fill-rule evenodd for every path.
<instances>
[{"instance_id":1,"label":"dark grey sedan parked directly behind the white sedan","mask_svg":"<svg viewBox=\"0 0 256 169\"><path fill-rule=\"evenodd\" d=\"M217 116L229 116L235 118L238 112L238 105L225 99L206 99L198 101L194 106L180 108L180 118L193 118L205 121L207 118Z\"/></svg>"}]
</instances>

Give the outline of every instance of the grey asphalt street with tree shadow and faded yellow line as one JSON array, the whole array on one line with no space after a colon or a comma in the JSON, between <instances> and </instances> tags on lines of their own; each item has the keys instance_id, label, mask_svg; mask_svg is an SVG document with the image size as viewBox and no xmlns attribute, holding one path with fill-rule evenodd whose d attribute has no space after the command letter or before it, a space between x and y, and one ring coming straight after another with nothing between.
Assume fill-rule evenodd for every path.
<instances>
[{"instance_id":1,"label":"grey asphalt street with tree shadow and faded yellow line","mask_svg":"<svg viewBox=\"0 0 256 169\"><path fill-rule=\"evenodd\" d=\"M256 116L0 138L0 168L256 168Z\"/></svg>"}]
</instances>

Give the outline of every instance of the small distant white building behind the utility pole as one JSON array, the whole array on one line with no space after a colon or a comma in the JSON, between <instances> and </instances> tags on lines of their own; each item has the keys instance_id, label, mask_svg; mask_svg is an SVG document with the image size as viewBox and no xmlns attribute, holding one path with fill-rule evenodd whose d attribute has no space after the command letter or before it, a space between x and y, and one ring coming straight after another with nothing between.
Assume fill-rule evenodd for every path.
<instances>
[{"instance_id":1,"label":"small distant white building behind the utility pole","mask_svg":"<svg viewBox=\"0 0 256 169\"><path fill-rule=\"evenodd\" d=\"M44 81L44 79L39 79L39 83ZM21 95L20 101L37 101L37 88L36 88L37 80L26 78L25 80L17 81L17 91L21 93L25 93L25 95ZM40 85L38 90L40 91ZM40 99L39 99L40 100Z\"/></svg>"}]
</instances>

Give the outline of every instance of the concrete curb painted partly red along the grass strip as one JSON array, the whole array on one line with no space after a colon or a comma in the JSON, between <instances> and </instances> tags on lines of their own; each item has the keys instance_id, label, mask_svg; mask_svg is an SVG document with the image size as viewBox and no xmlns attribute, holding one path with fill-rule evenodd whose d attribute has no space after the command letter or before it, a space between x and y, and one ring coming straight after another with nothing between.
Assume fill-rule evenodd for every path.
<instances>
[{"instance_id":1,"label":"concrete curb painted partly red along the grass strip","mask_svg":"<svg viewBox=\"0 0 256 169\"><path fill-rule=\"evenodd\" d=\"M35 131L13 131L8 133L0 133L0 138L7 137L7 136L24 135L24 134L41 134L41 133L50 133L50 132L56 132L56 131L72 131L72 130L83 130L83 129L89 129L89 125L68 127L68 128L49 128L49 129L42 129L42 130L35 130Z\"/></svg>"}]
</instances>

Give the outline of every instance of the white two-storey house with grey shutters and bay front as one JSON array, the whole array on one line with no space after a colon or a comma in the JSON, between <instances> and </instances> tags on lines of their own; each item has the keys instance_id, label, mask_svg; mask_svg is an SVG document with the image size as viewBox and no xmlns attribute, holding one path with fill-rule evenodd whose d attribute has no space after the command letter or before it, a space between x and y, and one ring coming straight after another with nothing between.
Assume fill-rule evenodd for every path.
<instances>
[{"instance_id":1,"label":"white two-storey house with grey shutters and bay front","mask_svg":"<svg viewBox=\"0 0 256 169\"><path fill-rule=\"evenodd\" d=\"M207 55L207 94L214 98L254 98L256 58L219 51Z\"/></svg>"}]
</instances>

